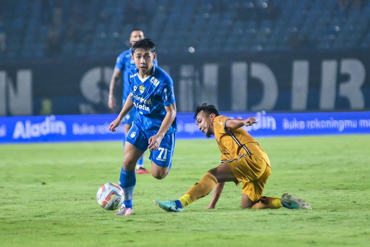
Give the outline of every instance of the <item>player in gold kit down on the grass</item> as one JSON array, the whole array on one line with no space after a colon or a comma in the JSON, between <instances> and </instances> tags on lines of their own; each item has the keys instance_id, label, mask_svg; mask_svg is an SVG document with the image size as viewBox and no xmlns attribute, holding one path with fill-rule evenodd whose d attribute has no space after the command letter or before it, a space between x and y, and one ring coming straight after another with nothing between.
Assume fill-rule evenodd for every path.
<instances>
[{"instance_id":1,"label":"player in gold kit down on the grass","mask_svg":"<svg viewBox=\"0 0 370 247\"><path fill-rule=\"evenodd\" d=\"M306 202L290 194L280 198L262 196L266 181L271 174L270 160L259 143L242 127L257 123L220 116L213 105L203 104L196 108L194 119L207 137L214 135L222 152L221 165L209 170L185 195L175 201L154 203L169 212L182 212L185 206L207 196L213 187L215 192L207 209L215 208L225 182L242 183L242 208L311 209Z\"/></svg>"}]
</instances>

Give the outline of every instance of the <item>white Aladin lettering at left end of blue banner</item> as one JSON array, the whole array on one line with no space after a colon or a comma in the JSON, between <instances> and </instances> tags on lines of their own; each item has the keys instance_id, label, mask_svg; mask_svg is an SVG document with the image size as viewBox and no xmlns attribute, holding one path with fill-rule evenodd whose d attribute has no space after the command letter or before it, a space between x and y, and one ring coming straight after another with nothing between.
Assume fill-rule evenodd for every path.
<instances>
[{"instance_id":1,"label":"white Aladin lettering at left end of blue banner","mask_svg":"<svg viewBox=\"0 0 370 247\"><path fill-rule=\"evenodd\" d=\"M32 124L31 121L27 120L18 121L15 124L13 138L18 139L30 139L32 137L39 137L41 135L48 134L61 134L66 135L67 127L63 121L55 121L55 116L49 116L45 118L44 122Z\"/></svg>"}]
</instances>

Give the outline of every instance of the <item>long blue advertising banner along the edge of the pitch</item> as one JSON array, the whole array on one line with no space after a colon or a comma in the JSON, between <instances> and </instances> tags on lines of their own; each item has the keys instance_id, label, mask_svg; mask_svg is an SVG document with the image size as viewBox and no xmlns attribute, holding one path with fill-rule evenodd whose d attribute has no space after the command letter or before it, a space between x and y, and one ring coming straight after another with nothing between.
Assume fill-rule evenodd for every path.
<instances>
[{"instance_id":1,"label":"long blue advertising banner along the edge of the pitch","mask_svg":"<svg viewBox=\"0 0 370 247\"><path fill-rule=\"evenodd\" d=\"M221 112L230 118L255 117L244 127L252 136L370 134L370 112L257 113ZM123 140L124 127L109 131L116 114L0 117L0 143ZM205 138L192 113L178 113L177 139Z\"/></svg>"}]
</instances>

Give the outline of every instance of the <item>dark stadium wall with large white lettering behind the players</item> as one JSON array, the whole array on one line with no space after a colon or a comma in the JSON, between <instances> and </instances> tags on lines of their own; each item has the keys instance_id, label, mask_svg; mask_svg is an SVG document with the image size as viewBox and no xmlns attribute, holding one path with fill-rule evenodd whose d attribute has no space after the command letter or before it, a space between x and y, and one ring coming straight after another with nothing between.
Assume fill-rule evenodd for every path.
<instances>
[{"instance_id":1,"label":"dark stadium wall with large white lettering behind the players","mask_svg":"<svg viewBox=\"0 0 370 247\"><path fill-rule=\"evenodd\" d=\"M370 109L367 54L195 52L158 61L173 78L179 112L203 102L222 111L349 111ZM115 56L82 61L0 62L0 116L112 113Z\"/></svg>"}]
</instances>

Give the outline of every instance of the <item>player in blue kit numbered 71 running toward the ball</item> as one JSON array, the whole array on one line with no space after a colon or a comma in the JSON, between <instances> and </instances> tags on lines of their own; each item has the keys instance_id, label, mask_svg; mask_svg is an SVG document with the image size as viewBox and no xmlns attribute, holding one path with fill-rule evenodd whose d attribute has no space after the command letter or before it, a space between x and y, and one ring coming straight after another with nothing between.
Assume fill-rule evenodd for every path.
<instances>
[{"instance_id":1,"label":"player in blue kit numbered 71 running toward the ball","mask_svg":"<svg viewBox=\"0 0 370 247\"><path fill-rule=\"evenodd\" d=\"M165 178L171 168L177 130L173 82L164 70L154 65L157 56L154 43L141 39L132 45L131 54L136 65L127 73L131 92L118 117L109 126L115 131L129 111L136 108L134 123L126 136L119 177L125 199L116 214L124 216L132 213L136 162L149 148L151 175L157 179Z\"/></svg>"}]
</instances>

